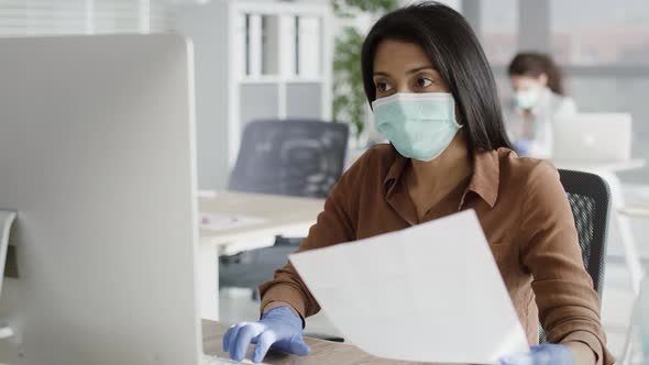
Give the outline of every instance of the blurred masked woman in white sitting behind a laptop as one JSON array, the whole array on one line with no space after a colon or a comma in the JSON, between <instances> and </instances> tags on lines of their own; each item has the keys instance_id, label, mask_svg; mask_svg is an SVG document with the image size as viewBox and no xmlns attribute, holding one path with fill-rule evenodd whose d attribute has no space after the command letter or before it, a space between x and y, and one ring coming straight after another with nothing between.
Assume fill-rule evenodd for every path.
<instances>
[{"instance_id":1,"label":"blurred masked woman in white sitting behind a laptop","mask_svg":"<svg viewBox=\"0 0 649 365\"><path fill-rule=\"evenodd\" d=\"M514 98L505 125L521 156L552 157L552 125L576 114L574 101L564 95L561 70L549 55L520 53L508 67Z\"/></svg>"}]
</instances>

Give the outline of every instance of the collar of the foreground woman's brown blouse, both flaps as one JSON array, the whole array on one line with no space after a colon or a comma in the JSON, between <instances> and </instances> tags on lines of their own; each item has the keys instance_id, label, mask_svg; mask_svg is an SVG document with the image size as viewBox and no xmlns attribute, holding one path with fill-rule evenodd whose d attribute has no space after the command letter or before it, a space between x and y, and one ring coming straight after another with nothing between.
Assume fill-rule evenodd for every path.
<instances>
[{"instance_id":1,"label":"collar of the foreground woman's brown blouse, both flaps","mask_svg":"<svg viewBox=\"0 0 649 365\"><path fill-rule=\"evenodd\" d=\"M394 150L394 148L393 148ZM393 162L383 185L385 187L385 196L389 196L404 175L408 158L402 156L396 150L395 161ZM498 199L498 185L501 180L501 168L497 151L477 152L473 155L473 174L466 187L466 191L462 195L462 203L466 192L473 191L477 193L491 208L494 208ZM462 207L460 207L462 208Z\"/></svg>"}]
</instances>

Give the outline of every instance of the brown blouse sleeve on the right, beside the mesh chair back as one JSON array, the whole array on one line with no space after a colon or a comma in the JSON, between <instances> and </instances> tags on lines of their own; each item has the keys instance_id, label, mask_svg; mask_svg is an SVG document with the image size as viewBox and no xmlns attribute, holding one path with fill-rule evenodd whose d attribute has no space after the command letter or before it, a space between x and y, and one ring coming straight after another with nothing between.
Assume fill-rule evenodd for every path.
<instances>
[{"instance_id":1,"label":"brown blouse sleeve on the right, beside the mesh chair back","mask_svg":"<svg viewBox=\"0 0 649 365\"><path fill-rule=\"evenodd\" d=\"M520 215L522 265L548 342L582 342L597 364L613 364L601 325L600 298L584 268L578 232L557 169L540 162L531 172Z\"/></svg>"}]
</instances>

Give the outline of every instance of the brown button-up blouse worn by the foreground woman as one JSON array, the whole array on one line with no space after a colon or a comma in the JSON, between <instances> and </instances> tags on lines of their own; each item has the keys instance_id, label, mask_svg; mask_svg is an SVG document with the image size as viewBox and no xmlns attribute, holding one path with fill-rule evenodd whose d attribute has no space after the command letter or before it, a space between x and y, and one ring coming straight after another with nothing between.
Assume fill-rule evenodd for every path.
<instances>
[{"instance_id":1,"label":"brown button-up blouse worn by the foreground woman","mask_svg":"<svg viewBox=\"0 0 649 365\"><path fill-rule=\"evenodd\" d=\"M391 145L369 150L341 177L298 252L420 223L404 179L408 164ZM507 148L476 153L471 178L432 207L422 222L465 209L477 213L529 343L539 341L540 319L548 342L583 342L597 355L597 364L613 364L600 299L552 164L520 158ZM320 310L290 264L260 290L262 310L288 303L302 318Z\"/></svg>"}]
</instances>

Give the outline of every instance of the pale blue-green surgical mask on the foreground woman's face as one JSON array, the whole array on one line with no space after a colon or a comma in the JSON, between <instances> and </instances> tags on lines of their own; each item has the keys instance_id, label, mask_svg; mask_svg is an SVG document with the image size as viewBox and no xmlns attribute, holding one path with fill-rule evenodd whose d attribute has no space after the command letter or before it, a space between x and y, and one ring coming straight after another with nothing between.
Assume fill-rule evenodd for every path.
<instances>
[{"instance_id":1,"label":"pale blue-green surgical mask on the foreground woman's face","mask_svg":"<svg viewBox=\"0 0 649 365\"><path fill-rule=\"evenodd\" d=\"M375 100L372 108L376 130L407 158L437 158L461 128L449 92L395 93Z\"/></svg>"}]
</instances>

